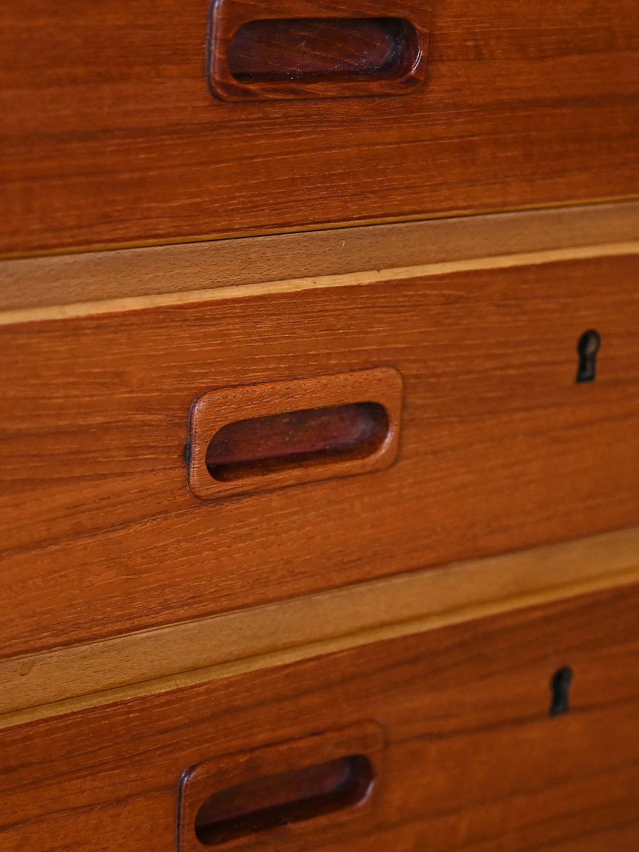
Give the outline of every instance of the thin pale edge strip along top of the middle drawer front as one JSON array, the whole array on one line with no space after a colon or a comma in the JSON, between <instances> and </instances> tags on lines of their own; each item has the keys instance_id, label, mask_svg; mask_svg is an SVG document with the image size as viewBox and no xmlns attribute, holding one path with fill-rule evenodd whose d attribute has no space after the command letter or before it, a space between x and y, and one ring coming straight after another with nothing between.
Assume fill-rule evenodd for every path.
<instances>
[{"instance_id":1,"label":"thin pale edge strip along top of the middle drawer front","mask_svg":"<svg viewBox=\"0 0 639 852\"><path fill-rule=\"evenodd\" d=\"M263 284L244 284L207 290L162 293L157 296L132 296L129 298L107 299L97 302L75 302L43 308L9 310L0 312L0 325L14 325L42 320L69 320L78 317L115 314L145 308L164 308L171 305L193 304L196 302L219 302L221 300L246 298L249 296L266 296L274 293L318 290L325 287L370 285L390 280L399 281L428 278L435 275L473 272L482 269L536 266L543 263L636 254L639 254L639 241L475 257L469 260L425 263L418 266L377 269L360 273L321 275L314 278L268 281Z\"/></svg>"}]
</instances>

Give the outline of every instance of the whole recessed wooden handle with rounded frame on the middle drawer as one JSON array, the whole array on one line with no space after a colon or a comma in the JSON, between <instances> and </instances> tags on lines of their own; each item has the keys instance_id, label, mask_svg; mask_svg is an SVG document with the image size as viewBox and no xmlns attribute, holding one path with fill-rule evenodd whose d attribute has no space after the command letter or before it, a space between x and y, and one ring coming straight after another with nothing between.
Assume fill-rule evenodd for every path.
<instances>
[{"instance_id":1,"label":"whole recessed wooden handle with rounded frame on the middle drawer","mask_svg":"<svg viewBox=\"0 0 639 852\"><path fill-rule=\"evenodd\" d=\"M388 468L400 445L401 394L400 373L388 367L211 390L191 408L188 486L206 500ZM353 403L372 403L381 417L344 422L339 414Z\"/></svg>"}]
</instances>

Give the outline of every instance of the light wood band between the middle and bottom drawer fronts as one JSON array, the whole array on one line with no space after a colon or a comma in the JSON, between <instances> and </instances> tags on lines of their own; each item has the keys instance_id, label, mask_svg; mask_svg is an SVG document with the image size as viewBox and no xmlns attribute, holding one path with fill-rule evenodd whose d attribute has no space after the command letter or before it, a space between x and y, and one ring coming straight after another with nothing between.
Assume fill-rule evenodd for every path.
<instances>
[{"instance_id":1,"label":"light wood band between the middle and bottom drawer fronts","mask_svg":"<svg viewBox=\"0 0 639 852\"><path fill-rule=\"evenodd\" d=\"M639 581L639 527L0 664L0 728Z\"/></svg>"}]
</instances>

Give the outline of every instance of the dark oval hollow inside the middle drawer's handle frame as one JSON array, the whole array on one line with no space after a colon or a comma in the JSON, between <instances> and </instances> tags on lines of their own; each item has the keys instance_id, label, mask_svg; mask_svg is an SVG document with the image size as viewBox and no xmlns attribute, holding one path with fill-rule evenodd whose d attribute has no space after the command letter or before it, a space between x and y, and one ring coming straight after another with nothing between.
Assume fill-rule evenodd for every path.
<instances>
[{"instance_id":1,"label":"dark oval hollow inside the middle drawer's handle frame","mask_svg":"<svg viewBox=\"0 0 639 852\"><path fill-rule=\"evenodd\" d=\"M309 408L238 420L210 440L206 468L220 482L353 459L376 452L389 434L377 402Z\"/></svg>"}]
</instances>

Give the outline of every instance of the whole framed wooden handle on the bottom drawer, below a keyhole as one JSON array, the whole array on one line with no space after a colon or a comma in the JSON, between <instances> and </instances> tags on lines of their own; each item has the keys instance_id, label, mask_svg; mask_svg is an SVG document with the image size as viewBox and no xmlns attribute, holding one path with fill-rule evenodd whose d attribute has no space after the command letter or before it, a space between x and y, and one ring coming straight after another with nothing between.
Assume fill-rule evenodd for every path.
<instances>
[{"instance_id":1,"label":"whole framed wooden handle on the bottom drawer, below a keyhole","mask_svg":"<svg viewBox=\"0 0 639 852\"><path fill-rule=\"evenodd\" d=\"M177 790L178 852L308 849L329 826L370 825L383 789L383 728L367 720L300 734L185 769Z\"/></svg>"}]
</instances>

